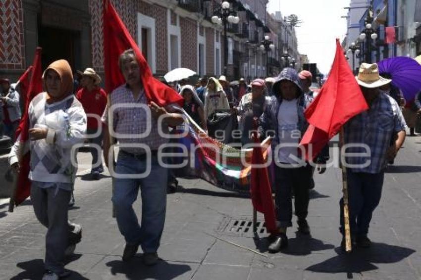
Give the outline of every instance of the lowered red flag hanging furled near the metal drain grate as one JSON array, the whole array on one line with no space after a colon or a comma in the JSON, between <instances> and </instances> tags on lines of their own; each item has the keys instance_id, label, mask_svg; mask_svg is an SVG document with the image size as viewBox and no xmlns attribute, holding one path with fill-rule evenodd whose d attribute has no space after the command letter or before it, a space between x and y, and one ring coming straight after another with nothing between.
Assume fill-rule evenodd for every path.
<instances>
[{"instance_id":1,"label":"lowered red flag hanging furled near the metal drain grate","mask_svg":"<svg viewBox=\"0 0 421 280\"><path fill-rule=\"evenodd\" d=\"M255 143L260 143L256 134L254 134L253 139ZM260 145L253 147L250 182L253 207L263 213L267 231L269 233L276 233L275 206L273 205L272 188L270 187L267 168L254 167L257 164L263 163L262 147Z\"/></svg>"}]
</instances>

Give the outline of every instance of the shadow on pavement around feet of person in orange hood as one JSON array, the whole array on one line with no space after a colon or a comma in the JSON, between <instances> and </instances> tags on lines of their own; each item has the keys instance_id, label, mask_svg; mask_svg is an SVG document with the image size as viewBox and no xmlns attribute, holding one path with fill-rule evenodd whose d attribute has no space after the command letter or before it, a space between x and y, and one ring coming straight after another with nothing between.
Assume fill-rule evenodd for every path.
<instances>
[{"instance_id":1,"label":"shadow on pavement around feet of person in orange hood","mask_svg":"<svg viewBox=\"0 0 421 280\"><path fill-rule=\"evenodd\" d=\"M68 258L65 264L68 264L72 261L79 259L82 255L74 254L72 257ZM20 272L18 275L13 276L10 280L26 280L26 279L41 279L44 275L44 261L41 259L21 262L17 264L17 267L25 270ZM71 271L69 277L65 278L68 280L88 280L88 278L83 277L75 271Z\"/></svg>"}]
</instances>

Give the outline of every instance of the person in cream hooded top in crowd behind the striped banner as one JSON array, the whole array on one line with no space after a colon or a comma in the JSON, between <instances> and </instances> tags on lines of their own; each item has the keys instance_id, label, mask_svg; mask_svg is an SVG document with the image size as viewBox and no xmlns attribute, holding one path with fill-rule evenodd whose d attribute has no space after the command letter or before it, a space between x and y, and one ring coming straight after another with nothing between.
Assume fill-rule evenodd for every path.
<instances>
[{"instance_id":1,"label":"person in cream hooded top in crowd behind the striped banner","mask_svg":"<svg viewBox=\"0 0 421 280\"><path fill-rule=\"evenodd\" d=\"M219 81L211 77L205 93L205 118L211 118L217 110L229 110L229 104Z\"/></svg>"}]
</instances>

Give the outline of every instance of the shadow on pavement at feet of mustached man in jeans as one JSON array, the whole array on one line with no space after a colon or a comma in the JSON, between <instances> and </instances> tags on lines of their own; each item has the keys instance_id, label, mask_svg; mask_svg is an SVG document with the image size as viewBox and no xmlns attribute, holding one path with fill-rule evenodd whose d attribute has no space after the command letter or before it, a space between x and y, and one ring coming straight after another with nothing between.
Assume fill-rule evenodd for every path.
<instances>
[{"instance_id":1,"label":"shadow on pavement at feet of mustached man in jeans","mask_svg":"<svg viewBox=\"0 0 421 280\"><path fill-rule=\"evenodd\" d=\"M168 262L159 259L158 264L148 267L142 264L141 259L136 255L129 262L114 260L106 263L107 267L111 268L113 276L117 274L124 274L127 279L157 279L170 280L180 275L191 271L191 267L185 264L169 264Z\"/></svg>"}]
</instances>

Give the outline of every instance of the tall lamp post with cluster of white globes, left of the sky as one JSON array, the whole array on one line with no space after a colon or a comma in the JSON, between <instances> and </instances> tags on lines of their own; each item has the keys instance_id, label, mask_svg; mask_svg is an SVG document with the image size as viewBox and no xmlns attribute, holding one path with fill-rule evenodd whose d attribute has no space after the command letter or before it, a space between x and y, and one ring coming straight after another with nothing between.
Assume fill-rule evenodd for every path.
<instances>
[{"instance_id":1,"label":"tall lamp post with cluster of white globes, left of the sky","mask_svg":"<svg viewBox=\"0 0 421 280\"><path fill-rule=\"evenodd\" d=\"M213 10L213 16L211 18L214 24L223 25L224 28L224 75L227 76L227 64L228 64L228 41L227 41L227 24L240 22L240 18L234 9L230 8L228 1L223 1L220 6L217 6Z\"/></svg>"}]
</instances>

